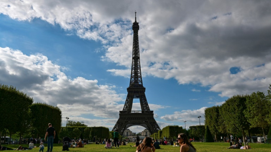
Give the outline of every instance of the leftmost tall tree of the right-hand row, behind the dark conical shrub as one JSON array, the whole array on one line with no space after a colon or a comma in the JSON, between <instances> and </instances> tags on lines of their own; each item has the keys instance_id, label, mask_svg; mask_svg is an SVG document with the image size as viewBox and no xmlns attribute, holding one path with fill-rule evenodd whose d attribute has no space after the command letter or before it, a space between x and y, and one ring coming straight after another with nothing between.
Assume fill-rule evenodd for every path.
<instances>
[{"instance_id":1,"label":"leftmost tall tree of the right-hand row, behind the dark conical shrub","mask_svg":"<svg viewBox=\"0 0 271 152\"><path fill-rule=\"evenodd\" d=\"M209 131L215 135L217 139L217 133L219 132L219 106L213 106L205 109L205 125L207 125ZM206 139L206 137L205 137Z\"/></svg>"}]
</instances>

